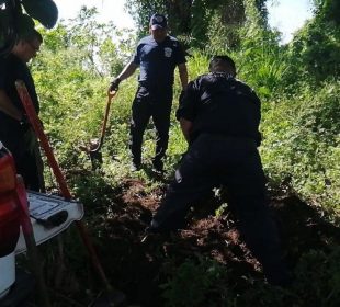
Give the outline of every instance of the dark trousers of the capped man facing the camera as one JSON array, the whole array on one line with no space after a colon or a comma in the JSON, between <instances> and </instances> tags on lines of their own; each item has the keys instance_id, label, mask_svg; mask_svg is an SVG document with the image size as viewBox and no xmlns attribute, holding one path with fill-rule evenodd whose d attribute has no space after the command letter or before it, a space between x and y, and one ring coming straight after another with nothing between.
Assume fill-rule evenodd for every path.
<instances>
[{"instance_id":1,"label":"dark trousers of the capped man facing the camera","mask_svg":"<svg viewBox=\"0 0 340 307\"><path fill-rule=\"evenodd\" d=\"M139 86L132 107L131 151L135 163L141 160L141 144L145 129L152 118L156 128L156 152L154 161L166 155L169 140L172 88L148 89Z\"/></svg>"}]
</instances>

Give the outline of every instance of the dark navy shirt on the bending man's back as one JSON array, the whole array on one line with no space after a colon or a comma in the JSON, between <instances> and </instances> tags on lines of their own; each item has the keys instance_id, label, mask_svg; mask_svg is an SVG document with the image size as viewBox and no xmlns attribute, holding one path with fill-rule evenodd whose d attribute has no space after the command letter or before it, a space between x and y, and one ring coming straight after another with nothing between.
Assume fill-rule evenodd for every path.
<instances>
[{"instance_id":1,"label":"dark navy shirt on the bending man's back","mask_svg":"<svg viewBox=\"0 0 340 307\"><path fill-rule=\"evenodd\" d=\"M207 73L191 81L177 118L193 123L191 139L209 133L261 141L260 100L251 88L227 73Z\"/></svg>"}]
</instances>

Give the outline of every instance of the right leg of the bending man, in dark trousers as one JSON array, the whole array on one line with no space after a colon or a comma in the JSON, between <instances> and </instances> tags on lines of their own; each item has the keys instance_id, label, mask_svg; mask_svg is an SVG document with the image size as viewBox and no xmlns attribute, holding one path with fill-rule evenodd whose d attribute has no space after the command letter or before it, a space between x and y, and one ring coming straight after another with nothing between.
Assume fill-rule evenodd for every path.
<instances>
[{"instance_id":1,"label":"right leg of the bending man, in dark trousers","mask_svg":"<svg viewBox=\"0 0 340 307\"><path fill-rule=\"evenodd\" d=\"M288 274L282 260L279 231L269 209L260 156L256 150L230 174L227 186L240 231L262 264L268 282L284 285Z\"/></svg>"}]
</instances>

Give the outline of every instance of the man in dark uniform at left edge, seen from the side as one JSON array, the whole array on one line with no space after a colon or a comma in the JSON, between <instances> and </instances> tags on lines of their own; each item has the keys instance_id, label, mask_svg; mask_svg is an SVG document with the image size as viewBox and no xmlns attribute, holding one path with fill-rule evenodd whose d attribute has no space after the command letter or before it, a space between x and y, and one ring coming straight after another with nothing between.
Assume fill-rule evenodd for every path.
<instances>
[{"instance_id":1,"label":"man in dark uniform at left edge, seen from the side","mask_svg":"<svg viewBox=\"0 0 340 307\"><path fill-rule=\"evenodd\" d=\"M16 171L26 187L44 190L43 162L36 136L18 95L15 81L24 81L35 111L39 102L27 62L34 58L43 42L34 29L21 33L10 55L0 57L0 139L14 157Z\"/></svg>"}]
</instances>

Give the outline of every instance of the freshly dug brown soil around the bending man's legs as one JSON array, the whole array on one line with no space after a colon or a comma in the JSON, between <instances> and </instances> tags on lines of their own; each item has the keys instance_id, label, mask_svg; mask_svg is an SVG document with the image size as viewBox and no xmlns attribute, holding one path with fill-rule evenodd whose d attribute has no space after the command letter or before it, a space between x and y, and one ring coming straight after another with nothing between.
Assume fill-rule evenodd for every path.
<instances>
[{"instance_id":1,"label":"freshly dug brown soil around the bending man's legs","mask_svg":"<svg viewBox=\"0 0 340 307\"><path fill-rule=\"evenodd\" d=\"M145 229L163 195L161 190L151 193L145 190L141 181L123 182L100 225L100 258L110 280L127 295L129 304L162 306L159 286L167 282L173 261L179 265L188 259L213 259L233 268L229 278L238 285L245 275L263 278L259 263L243 243L228 212L219 217L208 215L216 208L212 201L201 205L204 213L191 213L186 229L171 236L145 238ZM340 243L340 230L297 196L272 196L271 208L292 270L303 252L327 251L330 242Z\"/></svg>"}]
</instances>

